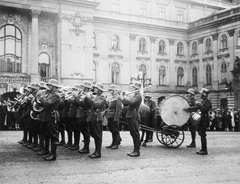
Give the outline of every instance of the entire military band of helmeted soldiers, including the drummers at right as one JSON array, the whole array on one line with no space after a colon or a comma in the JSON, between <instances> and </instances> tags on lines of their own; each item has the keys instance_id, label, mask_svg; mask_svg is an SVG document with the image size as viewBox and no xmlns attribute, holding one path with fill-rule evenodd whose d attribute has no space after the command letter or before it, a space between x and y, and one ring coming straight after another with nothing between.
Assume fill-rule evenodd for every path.
<instances>
[{"instance_id":1,"label":"entire military band of helmeted soldiers, including the drummers at right","mask_svg":"<svg viewBox=\"0 0 240 184\"><path fill-rule=\"evenodd\" d=\"M15 102L8 105L9 109L14 109L20 115L19 124L23 130L23 138L18 143L36 151L46 161L57 159L57 146L77 151L79 154L88 154L92 159L101 158L103 117L106 116L111 133L111 139L107 140L110 145L106 148L118 149L122 140L119 123L123 118L123 110L127 109L124 118L133 140L133 150L127 155L138 157L141 146L140 123L154 128L157 119L155 102L151 100L150 95L145 94L143 99L142 89L142 83L139 81L131 85L128 93L122 92L115 84L104 90L103 84L97 82L93 85L90 81L83 81L82 84L72 87L60 87L56 79L50 79L47 83L43 81L39 84L31 83L23 89ZM110 96L103 95L106 91ZM183 110L201 112L202 118L197 126L191 123L194 119L192 116L188 121L192 142L187 147L196 147L195 139L198 131L202 148L197 154L206 155L208 154L206 130L211 102L207 98L209 93L207 89L203 88L200 93L202 101L198 102L194 90L188 89L189 108ZM147 119L140 117L139 109L143 100L151 112ZM146 146L146 143L152 139L153 132L148 129L146 133L142 146ZM83 147L80 147L81 134ZM92 151L90 137L94 140L95 150Z\"/></svg>"}]
</instances>

